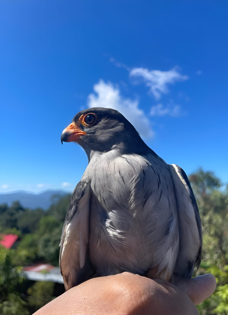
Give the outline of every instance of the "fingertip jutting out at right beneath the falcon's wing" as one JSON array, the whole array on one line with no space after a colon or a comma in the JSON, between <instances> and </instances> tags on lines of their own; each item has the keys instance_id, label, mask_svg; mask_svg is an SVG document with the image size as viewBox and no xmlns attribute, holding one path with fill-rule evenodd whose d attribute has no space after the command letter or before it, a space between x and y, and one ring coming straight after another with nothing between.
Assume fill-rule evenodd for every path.
<instances>
[{"instance_id":1,"label":"fingertip jutting out at right beneath the falcon's wing","mask_svg":"<svg viewBox=\"0 0 228 315\"><path fill-rule=\"evenodd\" d=\"M185 291L195 305L206 300L216 288L216 280L211 273L188 279L175 276L172 283Z\"/></svg>"}]
</instances>

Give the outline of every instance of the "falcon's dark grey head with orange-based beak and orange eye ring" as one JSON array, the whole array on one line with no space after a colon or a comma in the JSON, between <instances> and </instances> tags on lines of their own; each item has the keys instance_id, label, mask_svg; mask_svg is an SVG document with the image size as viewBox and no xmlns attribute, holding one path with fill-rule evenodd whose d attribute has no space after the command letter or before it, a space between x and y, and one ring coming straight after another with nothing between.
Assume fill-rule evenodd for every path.
<instances>
[{"instance_id":1,"label":"falcon's dark grey head with orange-based beak and orange eye ring","mask_svg":"<svg viewBox=\"0 0 228 315\"><path fill-rule=\"evenodd\" d=\"M133 125L118 111L94 107L78 112L61 135L61 142L77 142L88 155L118 148L138 153L147 147Z\"/></svg>"}]
</instances>

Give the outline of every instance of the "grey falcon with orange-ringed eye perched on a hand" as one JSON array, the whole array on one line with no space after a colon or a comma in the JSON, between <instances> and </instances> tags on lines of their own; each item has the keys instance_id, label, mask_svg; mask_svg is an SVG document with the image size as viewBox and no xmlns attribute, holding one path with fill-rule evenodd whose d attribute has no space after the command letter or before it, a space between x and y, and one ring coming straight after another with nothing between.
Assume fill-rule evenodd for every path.
<instances>
[{"instance_id":1,"label":"grey falcon with orange-ringed eye perched on a hand","mask_svg":"<svg viewBox=\"0 0 228 315\"><path fill-rule=\"evenodd\" d=\"M165 163L111 108L77 113L63 141L77 142L88 156L60 241L66 290L124 271L190 278L201 261L202 229L183 169Z\"/></svg>"}]
</instances>

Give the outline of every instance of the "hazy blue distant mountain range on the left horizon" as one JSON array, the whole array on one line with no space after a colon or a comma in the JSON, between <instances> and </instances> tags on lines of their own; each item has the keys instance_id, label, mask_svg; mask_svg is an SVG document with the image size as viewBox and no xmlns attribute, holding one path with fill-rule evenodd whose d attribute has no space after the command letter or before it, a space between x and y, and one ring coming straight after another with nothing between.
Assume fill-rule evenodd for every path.
<instances>
[{"instance_id":1,"label":"hazy blue distant mountain range on the left horizon","mask_svg":"<svg viewBox=\"0 0 228 315\"><path fill-rule=\"evenodd\" d=\"M10 206L14 201L19 201L25 208L43 208L46 210L53 202L56 202L60 197L66 194L67 192L63 190L47 190L39 194L27 191L1 193L0 204L7 203Z\"/></svg>"}]
</instances>

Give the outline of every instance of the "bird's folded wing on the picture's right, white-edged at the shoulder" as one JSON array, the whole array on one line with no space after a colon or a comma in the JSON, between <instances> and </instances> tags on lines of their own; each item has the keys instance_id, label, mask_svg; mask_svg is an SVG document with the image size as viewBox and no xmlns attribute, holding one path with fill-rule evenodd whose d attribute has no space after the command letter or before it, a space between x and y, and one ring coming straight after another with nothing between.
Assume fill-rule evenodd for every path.
<instances>
[{"instance_id":1,"label":"bird's folded wing on the picture's right, white-edged at the shoulder","mask_svg":"<svg viewBox=\"0 0 228 315\"><path fill-rule=\"evenodd\" d=\"M180 246L174 274L191 277L195 265L201 262L202 227L197 207L187 175L179 166L170 165L177 202Z\"/></svg>"}]
</instances>

